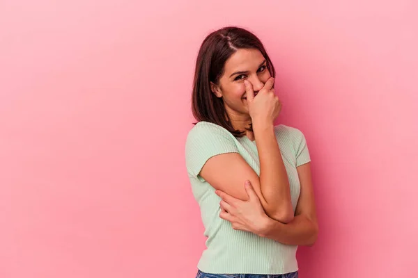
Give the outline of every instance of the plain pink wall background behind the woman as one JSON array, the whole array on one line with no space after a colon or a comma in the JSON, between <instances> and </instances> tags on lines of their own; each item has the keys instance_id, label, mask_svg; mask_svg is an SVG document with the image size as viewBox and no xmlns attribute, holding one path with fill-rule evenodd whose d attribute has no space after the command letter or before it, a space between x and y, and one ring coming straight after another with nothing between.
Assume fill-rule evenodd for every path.
<instances>
[{"instance_id":1,"label":"plain pink wall background behind the woman","mask_svg":"<svg viewBox=\"0 0 418 278\"><path fill-rule=\"evenodd\" d=\"M410 1L0 1L0 277L194 277L194 60L238 24L313 160L301 277L418 277Z\"/></svg>"}]
</instances>

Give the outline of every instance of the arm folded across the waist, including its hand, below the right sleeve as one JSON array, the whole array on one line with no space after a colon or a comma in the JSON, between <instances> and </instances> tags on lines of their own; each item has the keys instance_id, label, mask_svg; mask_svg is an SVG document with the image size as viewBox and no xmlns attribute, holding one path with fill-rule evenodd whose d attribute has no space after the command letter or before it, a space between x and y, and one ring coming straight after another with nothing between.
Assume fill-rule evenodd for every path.
<instances>
[{"instance_id":1,"label":"arm folded across the waist, including its hand, below the right sleeve","mask_svg":"<svg viewBox=\"0 0 418 278\"><path fill-rule=\"evenodd\" d=\"M300 197L295 218L283 224L271 218L259 208L259 200L251 187L247 188L249 200L242 202L223 192L220 217L232 223L234 229L251 231L254 234L277 240L287 245L313 245L318 236L318 222L311 181L311 163L297 167L300 179Z\"/></svg>"}]
</instances>

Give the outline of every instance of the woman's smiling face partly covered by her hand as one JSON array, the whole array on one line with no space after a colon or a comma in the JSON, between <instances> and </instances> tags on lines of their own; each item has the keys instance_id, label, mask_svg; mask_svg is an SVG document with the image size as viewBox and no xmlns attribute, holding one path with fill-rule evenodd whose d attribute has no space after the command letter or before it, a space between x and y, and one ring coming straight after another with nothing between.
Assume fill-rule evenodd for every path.
<instances>
[{"instance_id":1,"label":"woman's smiling face partly covered by her hand","mask_svg":"<svg viewBox=\"0 0 418 278\"><path fill-rule=\"evenodd\" d=\"M256 93L269 78L265 58L258 49L238 49L226 60L224 75L217 85L211 83L211 90L224 99L229 113L249 115L244 81L248 80Z\"/></svg>"}]
</instances>

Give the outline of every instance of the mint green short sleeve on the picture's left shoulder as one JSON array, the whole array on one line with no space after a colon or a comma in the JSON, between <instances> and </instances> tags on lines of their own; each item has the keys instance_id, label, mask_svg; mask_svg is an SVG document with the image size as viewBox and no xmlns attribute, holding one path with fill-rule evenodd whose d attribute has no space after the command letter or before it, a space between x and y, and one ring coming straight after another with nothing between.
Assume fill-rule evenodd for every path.
<instances>
[{"instance_id":1,"label":"mint green short sleeve on the picture's left shoulder","mask_svg":"<svg viewBox=\"0 0 418 278\"><path fill-rule=\"evenodd\" d=\"M204 181L199 173L206 161L212 156L233 152L238 153L238 148L229 131L217 124L199 122L187 134L185 144L187 173Z\"/></svg>"}]
</instances>

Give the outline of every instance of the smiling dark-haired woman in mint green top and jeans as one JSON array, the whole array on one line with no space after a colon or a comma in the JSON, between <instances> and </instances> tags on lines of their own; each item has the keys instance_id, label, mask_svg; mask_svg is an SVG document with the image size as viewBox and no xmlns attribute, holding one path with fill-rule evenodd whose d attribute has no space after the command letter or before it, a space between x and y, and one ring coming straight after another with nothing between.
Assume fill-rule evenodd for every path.
<instances>
[{"instance_id":1,"label":"smiling dark-haired woman in mint green top and jeans","mask_svg":"<svg viewBox=\"0 0 418 278\"><path fill-rule=\"evenodd\" d=\"M185 146L206 250L196 277L297 277L297 245L318 224L310 157L281 111L274 67L258 38L238 27L210 33L196 60Z\"/></svg>"}]
</instances>

